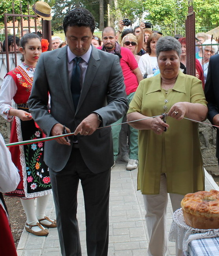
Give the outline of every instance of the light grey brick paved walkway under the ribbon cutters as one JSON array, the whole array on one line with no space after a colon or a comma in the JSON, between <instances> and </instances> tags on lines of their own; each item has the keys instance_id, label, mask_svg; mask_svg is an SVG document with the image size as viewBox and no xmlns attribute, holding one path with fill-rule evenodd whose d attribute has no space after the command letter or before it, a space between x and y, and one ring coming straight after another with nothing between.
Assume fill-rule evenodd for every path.
<instances>
[{"instance_id":1,"label":"light grey brick paved walkway under the ribbon cutters","mask_svg":"<svg viewBox=\"0 0 219 256\"><path fill-rule=\"evenodd\" d=\"M137 170L126 171L126 163L117 161L111 174L110 208L109 208L109 253L108 256L147 256L148 236L145 226L145 210L142 194L136 191ZM219 187L213 178L206 174L206 190ZM86 234L83 192L78 191L78 222L81 248L86 256ZM173 211L170 202L167 206L168 231L172 222ZM55 218L53 198L47 209L47 216ZM37 237L22 233L17 253L18 256L61 256L56 228L49 229L47 237ZM168 243L167 256L175 255L175 243Z\"/></svg>"}]
</instances>

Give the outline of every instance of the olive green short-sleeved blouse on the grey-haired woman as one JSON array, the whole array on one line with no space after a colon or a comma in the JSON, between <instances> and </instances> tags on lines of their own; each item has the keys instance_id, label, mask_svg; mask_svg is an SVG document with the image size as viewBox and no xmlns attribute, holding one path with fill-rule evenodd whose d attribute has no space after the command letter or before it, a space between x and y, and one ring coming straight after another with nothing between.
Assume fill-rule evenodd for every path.
<instances>
[{"instance_id":1,"label":"olive green short-sleeved blouse on the grey-haired woman","mask_svg":"<svg viewBox=\"0 0 219 256\"><path fill-rule=\"evenodd\" d=\"M140 82L128 113L156 116L183 101L206 106L201 80L180 71L173 89L165 93L158 74ZM166 173L168 193L204 190L198 123L171 117L167 117L166 122L169 128L161 135L152 130L138 131L138 190L142 194L159 194L162 173Z\"/></svg>"}]
</instances>

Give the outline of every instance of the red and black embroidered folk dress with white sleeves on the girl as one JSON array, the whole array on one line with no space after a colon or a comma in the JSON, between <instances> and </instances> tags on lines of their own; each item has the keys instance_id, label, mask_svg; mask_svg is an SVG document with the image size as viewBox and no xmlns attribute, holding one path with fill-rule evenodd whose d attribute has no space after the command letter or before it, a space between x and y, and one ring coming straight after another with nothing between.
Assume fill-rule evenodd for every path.
<instances>
[{"instance_id":1,"label":"red and black embroidered folk dress with white sleeves on the girl","mask_svg":"<svg viewBox=\"0 0 219 256\"><path fill-rule=\"evenodd\" d=\"M29 112L27 101L31 92L35 68L24 63L7 73L0 91L0 115L6 120L13 120L10 142L34 140L43 134L34 120L22 121L17 116L9 116L12 99L17 109ZM7 196L35 198L51 194L48 166L43 161L44 142L10 147L12 161L18 168L20 183L15 191Z\"/></svg>"}]
</instances>

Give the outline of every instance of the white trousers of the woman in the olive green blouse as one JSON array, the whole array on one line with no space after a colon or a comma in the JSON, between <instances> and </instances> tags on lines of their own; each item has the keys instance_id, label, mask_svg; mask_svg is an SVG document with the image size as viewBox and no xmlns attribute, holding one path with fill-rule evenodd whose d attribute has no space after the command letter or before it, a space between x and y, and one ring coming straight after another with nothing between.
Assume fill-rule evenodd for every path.
<instances>
[{"instance_id":1,"label":"white trousers of the woman in the olive green blouse","mask_svg":"<svg viewBox=\"0 0 219 256\"><path fill-rule=\"evenodd\" d=\"M181 200L180 194L169 194L173 212L179 209ZM168 203L166 175L160 176L160 194L143 195L146 210L145 220L149 235L148 256L165 256L167 252L167 226L166 212ZM178 249L176 243L176 256L182 256L182 250Z\"/></svg>"}]
</instances>

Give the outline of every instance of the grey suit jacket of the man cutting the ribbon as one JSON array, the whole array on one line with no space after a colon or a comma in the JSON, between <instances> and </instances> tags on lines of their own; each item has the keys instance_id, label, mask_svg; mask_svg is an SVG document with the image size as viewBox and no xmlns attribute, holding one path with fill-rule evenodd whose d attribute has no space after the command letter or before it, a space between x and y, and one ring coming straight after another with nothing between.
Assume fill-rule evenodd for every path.
<instances>
[{"instance_id":1,"label":"grey suit jacket of the man cutting the ribbon","mask_svg":"<svg viewBox=\"0 0 219 256\"><path fill-rule=\"evenodd\" d=\"M50 93L50 113L47 109ZM118 56L92 47L77 109L74 109L67 69L67 47L41 54L35 70L28 100L33 119L50 136L56 123L71 132L92 112L98 113L102 125L110 125L123 116L127 98ZM113 161L111 128L96 130L90 136L77 135L79 150L87 167L94 173L109 170ZM44 161L55 171L66 165L71 146L51 140L45 143Z\"/></svg>"}]
</instances>

